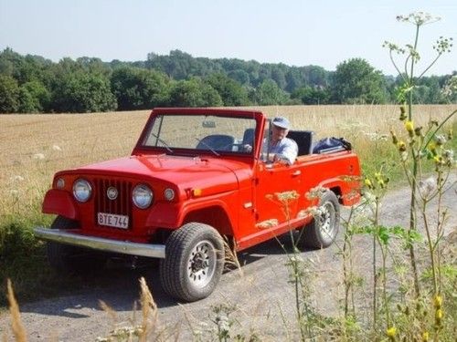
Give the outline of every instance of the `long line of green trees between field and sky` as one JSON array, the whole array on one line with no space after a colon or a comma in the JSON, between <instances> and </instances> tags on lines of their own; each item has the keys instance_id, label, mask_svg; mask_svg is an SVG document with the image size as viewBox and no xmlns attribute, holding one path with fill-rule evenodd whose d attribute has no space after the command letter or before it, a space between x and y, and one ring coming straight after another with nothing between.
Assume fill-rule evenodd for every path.
<instances>
[{"instance_id":1,"label":"long line of green trees between field and sky","mask_svg":"<svg viewBox=\"0 0 457 342\"><path fill-rule=\"evenodd\" d=\"M457 73L421 78L415 103L455 103L446 87ZM58 63L0 53L0 113L97 112L154 107L384 104L400 80L363 58L323 67L289 67L236 58L192 57L174 50L144 61L63 58Z\"/></svg>"}]
</instances>

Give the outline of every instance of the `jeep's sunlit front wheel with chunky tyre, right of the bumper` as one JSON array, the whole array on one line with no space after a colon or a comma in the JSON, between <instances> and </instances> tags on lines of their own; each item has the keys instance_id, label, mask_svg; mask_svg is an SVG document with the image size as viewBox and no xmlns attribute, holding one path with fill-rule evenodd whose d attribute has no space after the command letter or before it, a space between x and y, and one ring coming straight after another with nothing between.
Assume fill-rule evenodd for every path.
<instances>
[{"instance_id":1,"label":"jeep's sunlit front wheel with chunky tyre, right of the bumper","mask_svg":"<svg viewBox=\"0 0 457 342\"><path fill-rule=\"evenodd\" d=\"M224 244L218 231L203 223L186 223L171 233L160 264L165 292L187 302L206 298L224 266Z\"/></svg>"}]
</instances>

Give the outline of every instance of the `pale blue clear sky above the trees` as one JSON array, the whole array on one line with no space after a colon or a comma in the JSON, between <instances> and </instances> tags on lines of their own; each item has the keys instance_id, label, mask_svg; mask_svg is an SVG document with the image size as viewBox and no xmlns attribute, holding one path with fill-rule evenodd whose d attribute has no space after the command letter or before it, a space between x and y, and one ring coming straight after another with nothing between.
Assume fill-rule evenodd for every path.
<instances>
[{"instance_id":1,"label":"pale blue clear sky above the trees","mask_svg":"<svg viewBox=\"0 0 457 342\"><path fill-rule=\"evenodd\" d=\"M327 70L361 57L397 75L382 44L413 44L415 26L396 16L417 11L441 16L420 29L420 72L435 56L437 38L457 43L456 0L0 0L0 50L58 62L138 61L179 49L193 57ZM427 75L457 70L456 49Z\"/></svg>"}]
</instances>

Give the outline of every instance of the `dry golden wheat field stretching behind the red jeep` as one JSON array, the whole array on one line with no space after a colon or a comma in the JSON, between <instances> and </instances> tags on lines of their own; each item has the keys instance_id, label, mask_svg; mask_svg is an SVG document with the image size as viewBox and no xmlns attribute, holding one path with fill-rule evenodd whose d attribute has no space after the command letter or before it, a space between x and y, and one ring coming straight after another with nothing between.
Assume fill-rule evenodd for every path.
<instances>
[{"instance_id":1,"label":"dry golden wheat field stretching behind the red jeep","mask_svg":"<svg viewBox=\"0 0 457 342\"><path fill-rule=\"evenodd\" d=\"M316 139L337 136L353 142L363 160L374 137L402 130L398 106L250 107L269 117L286 116L294 130L314 130ZM455 105L415 107L415 124L446 118ZM93 114L0 116L0 212L31 214L54 172L130 154L150 110ZM182 130L186 130L183 127ZM37 212L35 212L37 214Z\"/></svg>"}]
</instances>

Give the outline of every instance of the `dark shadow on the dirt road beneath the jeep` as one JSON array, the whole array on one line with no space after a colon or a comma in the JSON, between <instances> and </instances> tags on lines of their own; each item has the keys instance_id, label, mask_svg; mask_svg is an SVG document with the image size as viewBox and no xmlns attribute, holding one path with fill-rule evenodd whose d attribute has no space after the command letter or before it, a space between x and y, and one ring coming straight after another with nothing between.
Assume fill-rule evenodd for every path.
<instances>
[{"instance_id":1,"label":"dark shadow on the dirt road beneath the jeep","mask_svg":"<svg viewBox=\"0 0 457 342\"><path fill-rule=\"evenodd\" d=\"M296 234L294 235L296 237ZM289 233L258 244L238 254L241 268L256 264L271 255L285 255L292 251ZM306 252L305 252L306 253ZM221 281L234 281L230 276L236 270L227 270ZM56 279L61 275L56 275ZM53 297L51 305L39 306L39 302L21 306L22 312L34 312L46 316L65 316L70 318L85 318L85 310L101 310L100 300L112 307L116 312L132 311L138 305L140 297L139 279L143 276L149 286L158 308L178 306L180 303L166 295L159 279L158 260L151 259L113 259L102 270L91 270L84 275L68 275L69 281L74 280L75 286L70 294L62 289L62 293ZM225 279L224 279L225 278Z\"/></svg>"}]
</instances>

